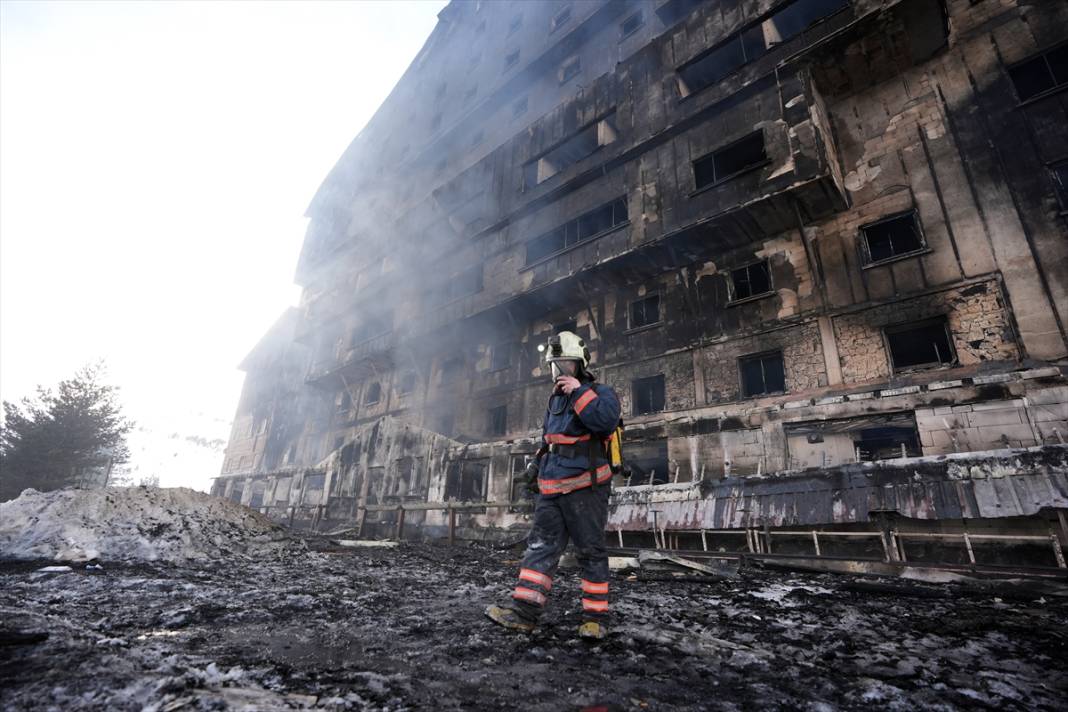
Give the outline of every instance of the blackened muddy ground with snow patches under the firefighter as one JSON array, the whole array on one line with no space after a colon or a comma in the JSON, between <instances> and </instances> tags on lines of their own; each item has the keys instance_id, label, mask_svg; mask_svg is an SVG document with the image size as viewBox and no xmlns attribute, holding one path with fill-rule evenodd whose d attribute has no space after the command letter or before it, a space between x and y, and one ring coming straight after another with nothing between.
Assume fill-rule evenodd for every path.
<instances>
[{"instance_id":1,"label":"blackened muddy ground with snow patches under the firefighter","mask_svg":"<svg viewBox=\"0 0 1068 712\"><path fill-rule=\"evenodd\" d=\"M288 560L0 565L4 710L1064 709L1068 602L959 585L874 591L751 570L613 580L576 638L564 571L532 636L483 617L514 551L409 544ZM12 631L47 632L19 643Z\"/></svg>"}]
</instances>

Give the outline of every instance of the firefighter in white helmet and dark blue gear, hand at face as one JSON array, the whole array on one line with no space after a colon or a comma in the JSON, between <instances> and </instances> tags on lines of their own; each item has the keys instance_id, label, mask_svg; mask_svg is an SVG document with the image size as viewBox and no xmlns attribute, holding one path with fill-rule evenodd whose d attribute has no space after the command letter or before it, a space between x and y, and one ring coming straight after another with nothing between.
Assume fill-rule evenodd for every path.
<instances>
[{"instance_id":1,"label":"firefighter in white helmet and dark blue gear, hand at face","mask_svg":"<svg viewBox=\"0 0 1068 712\"><path fill-rule=\"evenodd\" d=\"M606 443L619 424L619 399L611 387L595 382L587 370L590 349L577 334L562 331L551 337L545 358L553 390L541 429L544 445L530 468L538 490L534 526L512 600L490 605L486 615L508 629L534 630L570 540L582 569L579 636L600 639L607 633L604 525L612 481Z\"/></svg>"}]
</instances>

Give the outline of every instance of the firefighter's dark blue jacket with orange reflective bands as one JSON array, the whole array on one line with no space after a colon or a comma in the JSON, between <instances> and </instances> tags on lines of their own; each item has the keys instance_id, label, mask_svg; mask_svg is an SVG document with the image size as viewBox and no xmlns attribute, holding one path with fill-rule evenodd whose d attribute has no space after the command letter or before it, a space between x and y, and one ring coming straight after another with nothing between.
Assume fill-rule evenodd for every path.
<instances>
[{"instance_id":1,"label":"firefighter's dark blue jacket with orange reflective bands","mask_svg":"<svg viewBox=\"0 0 1068 712\"><path fill-rule=\"evenodd\" d=\"M549 445L538 473L541 495L590 487L594 477L597 484L611 480L604 441L613 437L618 424L619 399L607 385L585 382L569 396L552 394L541 429Z\"/></svg>"}]
</instances>

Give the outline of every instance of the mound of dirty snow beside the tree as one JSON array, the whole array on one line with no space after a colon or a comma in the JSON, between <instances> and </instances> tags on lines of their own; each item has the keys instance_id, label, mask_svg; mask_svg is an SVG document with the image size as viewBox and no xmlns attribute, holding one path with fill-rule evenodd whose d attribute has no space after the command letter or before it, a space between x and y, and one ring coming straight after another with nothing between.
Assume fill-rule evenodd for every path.
<instances>
[{"instance_id":1,"label":"mound of dirty snow beside the tree","mask_svg":"<svg viewBox=\"0 0 1068 712\"><path fill-rule=\"evenodd\" d=\"M0 503L2 558L179 563L301 548L263 515L186 488L26 490Z\"/></svg>"}]
</instances>

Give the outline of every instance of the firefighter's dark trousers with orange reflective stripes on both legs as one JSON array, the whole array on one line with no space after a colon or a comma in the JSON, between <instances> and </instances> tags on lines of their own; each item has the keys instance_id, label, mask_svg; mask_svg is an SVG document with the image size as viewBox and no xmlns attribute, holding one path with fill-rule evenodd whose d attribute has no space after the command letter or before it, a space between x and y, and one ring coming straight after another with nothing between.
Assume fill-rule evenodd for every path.
<instances>
[{"instance_id":1,"label":"firefighter's dark trousers with orange reflective stripes on both legs","mask_svg":"<svg viewBox=\"0 0 1068 712\"><path fill-rule=\"evenodd\" d=\"M585 620L608 615L608 552L604 526L611 487L600 485L557 496L538 496L534 527L527 538L527 553L513 592L514 608L536 620L545 608L552 577L568 541L575 543L581 567L582 613Z\"/></svg>"}]
</instances>

